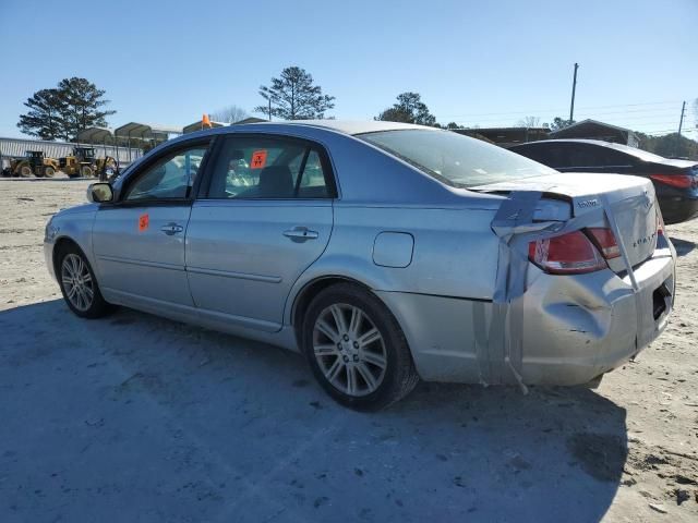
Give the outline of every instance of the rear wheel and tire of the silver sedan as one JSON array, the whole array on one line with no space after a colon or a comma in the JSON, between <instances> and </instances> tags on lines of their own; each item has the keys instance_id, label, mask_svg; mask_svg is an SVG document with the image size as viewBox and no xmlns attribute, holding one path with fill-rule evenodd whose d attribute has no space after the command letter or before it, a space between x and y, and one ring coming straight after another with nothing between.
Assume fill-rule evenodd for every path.
<instances>
[{"instance_id":1,"label":"rear wheel and tire of the silver sedan","mask_svg":"<svg viewBox=\"0 0 698 523\"><path fill-rule=\"evenodd\" d=\"M419 381L397 320L359 285L339 283L315 296L303 317L302 348L321 386L350 409L384 409Z\"/></svg>"}]
</instances>

